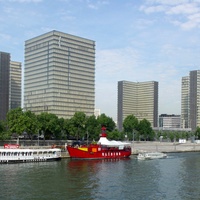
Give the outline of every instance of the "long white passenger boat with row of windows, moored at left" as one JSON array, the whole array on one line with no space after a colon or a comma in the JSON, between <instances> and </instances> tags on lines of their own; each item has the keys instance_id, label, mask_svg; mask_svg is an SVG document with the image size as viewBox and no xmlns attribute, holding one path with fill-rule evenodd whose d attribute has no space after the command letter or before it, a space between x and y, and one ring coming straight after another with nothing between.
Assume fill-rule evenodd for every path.
<instances>
[{"instance_id":1,"label":"long white passenger boat with row of windows, moored at left","mask_svg":"<svg viewBox=\"0 0 200 200\"><path fill-rule=\"evenodd\" d=\"M0 149L0 164L16 162L44 162L61 159L61 149Z\"/></svg>"}]
</instances>

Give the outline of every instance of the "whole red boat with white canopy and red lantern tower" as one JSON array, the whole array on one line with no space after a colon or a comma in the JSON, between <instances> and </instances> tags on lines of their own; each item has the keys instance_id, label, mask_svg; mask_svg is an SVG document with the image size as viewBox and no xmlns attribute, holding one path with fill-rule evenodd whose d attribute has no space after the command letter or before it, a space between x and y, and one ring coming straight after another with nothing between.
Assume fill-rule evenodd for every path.
<instances>
[{"instance_id":1,"label":"whole red boat with white canopy and red lantern tower","mask_svg":"<svg viewBox=\"0 0 200 200\"><path fill-rule=\"evenodd\" d=\"M107 159L127 158L131 155L131 144L120 141L109 141L106 128L101 128L100 139L97 144L90 145L67 145L71 158Z\"/></svg>"}]
</instances>

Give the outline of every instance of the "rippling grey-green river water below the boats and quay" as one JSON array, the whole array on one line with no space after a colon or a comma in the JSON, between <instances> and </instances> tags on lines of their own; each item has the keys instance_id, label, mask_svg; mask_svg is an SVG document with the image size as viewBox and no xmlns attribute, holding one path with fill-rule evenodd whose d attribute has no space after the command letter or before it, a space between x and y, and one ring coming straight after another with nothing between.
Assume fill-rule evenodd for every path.
<instances>
[{"instance_id":1,"label":"rippling grey-green river water below the boats and quay","mask_svg":"<svg viewBox=\"0 0 200 200\"><path fill-rule=\"evenodd\" d=\"M2 200L200 199L200 153L0 165Z\"/></svg>"}]
</instances>

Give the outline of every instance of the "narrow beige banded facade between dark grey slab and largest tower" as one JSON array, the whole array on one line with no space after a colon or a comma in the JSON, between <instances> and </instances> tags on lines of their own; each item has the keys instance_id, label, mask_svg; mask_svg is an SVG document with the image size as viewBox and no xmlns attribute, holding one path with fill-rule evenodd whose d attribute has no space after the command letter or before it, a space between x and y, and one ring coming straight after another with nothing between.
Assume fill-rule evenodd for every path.
<instances>
[{"instance_id":1,"label":"narrow beige banded facade between dark grey slab and largest tower","mask_svg":"<svg viewBox=\"0 0 200 200\"><path fill-rule=\"evenodd\" d=\"M21 107L21 62L10 62L9 109Z\"/></svg>"}]
</instances>

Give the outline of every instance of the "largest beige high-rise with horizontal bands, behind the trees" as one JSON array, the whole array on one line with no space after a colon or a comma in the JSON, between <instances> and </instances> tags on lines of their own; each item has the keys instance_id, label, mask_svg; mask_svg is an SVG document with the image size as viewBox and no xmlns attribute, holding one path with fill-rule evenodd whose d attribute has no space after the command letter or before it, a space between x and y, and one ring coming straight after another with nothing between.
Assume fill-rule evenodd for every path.
<instances>
[{"instance_id":1,"label":"largest beige high-rise with horizontal bands, behind the trees","mask_svg":"<svg viewBox=\"0 0 200 200\"><path fill-rule=\"evenodd\" d=\"M59 31L25 42L24 108L70 118L94 114L95 42Z\"/></svg>"}]
</instances>

